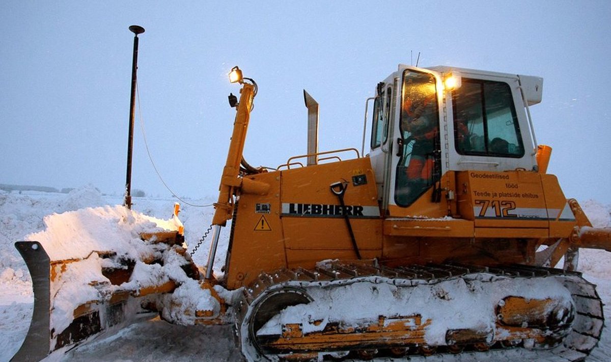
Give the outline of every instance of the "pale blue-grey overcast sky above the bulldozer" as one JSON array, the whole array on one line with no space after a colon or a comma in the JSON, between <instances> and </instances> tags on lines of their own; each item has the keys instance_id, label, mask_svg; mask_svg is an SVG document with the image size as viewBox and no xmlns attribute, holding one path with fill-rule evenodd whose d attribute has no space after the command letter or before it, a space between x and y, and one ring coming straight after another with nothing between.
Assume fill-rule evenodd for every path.
<instances>
[{"instance_id":1,"label":"pale blue-grey overcast sky above the bulldozer","mask_svg":"<svg viewBox=\"0 0 611 362\"><path fill-rule=\"evenodd\" d=\"M400 63L544 78L532 107L567 197L611 203L611 1L0 2L0 183L92 183L122 193L131 24L150 151L181 196L214 195L239 87L259 86L244 151L276 167L306 150L302 89L320 103L320 150L360 149L365 98ZM168 196L139 123L133 188Z\"/></svg>"}]
</instances>

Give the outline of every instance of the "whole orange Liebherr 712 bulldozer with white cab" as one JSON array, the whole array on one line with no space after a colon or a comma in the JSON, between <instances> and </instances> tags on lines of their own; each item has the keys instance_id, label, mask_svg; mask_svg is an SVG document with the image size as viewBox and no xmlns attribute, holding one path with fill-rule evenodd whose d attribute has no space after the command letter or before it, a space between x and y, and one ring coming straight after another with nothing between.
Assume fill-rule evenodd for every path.
<instances>
[{"instance_id":1,"label":"whole orange Liebherr 712 bulldozer with white cab","mask_svg":"<svg viewBox=\"0 0 611 362\"><path fill-rule=\"evenodd\" d=\"M547 173L551 147L536 142L529 109L542 78L400 64L365 103L360 152L318 151L318 103L304 91L307 152L276 168L245 160L258 87L238 67L230 81L241 89L229 97L236 116L207 265L186 253L181 229L143 234L156 257L141 260L103 249L54 260L42 243L18 242L35 302L13 360L41 360L151 313L233 324L247 361L505 349L578 361L595 349L602 301L576 268L580 248L611 251L611 229L592 227ZM104 260L88 281L98 294L55 316L60 284L92 255ZM187 277L130 283L134 265L169 260ZM186 284L198 293L180 292Z\"/></svg>"}]
</instances>

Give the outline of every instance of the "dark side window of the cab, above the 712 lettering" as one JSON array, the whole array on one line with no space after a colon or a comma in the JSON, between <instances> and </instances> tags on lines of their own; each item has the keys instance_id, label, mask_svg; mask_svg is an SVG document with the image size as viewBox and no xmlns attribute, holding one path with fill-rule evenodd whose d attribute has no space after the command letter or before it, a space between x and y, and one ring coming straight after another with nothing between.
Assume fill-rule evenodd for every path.
<instances>
[{"instance_id":1,"label":"dark side window of the cab, above the 712 lettering","mask_svg":"<svg viewBox=\"0 0 611 362\"><path fill-rule=\"evenodd\" d=\"M522 157L524 146L507 83L463 79L452 94L456 151L462 155Z\"/></svg>"}]
</instances>

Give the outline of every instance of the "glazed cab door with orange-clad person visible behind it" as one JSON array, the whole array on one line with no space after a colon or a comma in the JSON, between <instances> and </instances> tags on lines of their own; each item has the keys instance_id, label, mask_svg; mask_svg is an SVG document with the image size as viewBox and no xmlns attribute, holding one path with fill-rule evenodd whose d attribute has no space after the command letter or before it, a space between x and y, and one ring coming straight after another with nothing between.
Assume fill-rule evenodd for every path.
<instances>
[{"instance_id":1,"label":"glazed cab door with orange-clad person visible behind it","mask_svg":"<svg viewBox=\"0 0 611 362\"><path fill-rule=\"evenodd\" d=\"M409 207L425 194L427 204L433 206L441 198L445 172L441 139L447 131L441 127L443 88L441 75L431 70L403 66L400 77L387 186L389 210L392 216L417 216Z\"/></svg>"}]
</instances>

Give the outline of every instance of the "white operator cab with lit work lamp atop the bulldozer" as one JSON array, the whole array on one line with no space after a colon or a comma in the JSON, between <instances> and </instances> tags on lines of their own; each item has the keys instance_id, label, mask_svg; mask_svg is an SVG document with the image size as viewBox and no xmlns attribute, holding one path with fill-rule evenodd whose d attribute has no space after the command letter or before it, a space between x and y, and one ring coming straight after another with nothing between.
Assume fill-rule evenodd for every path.
<instances>
[{"instance_id":1,"label":"white operator cab with lit work lamp atop the bulldozer","mask_svg":"<svg viewBox=\"0 0 611 362\"><path fill-rule=\"evenodd\" d=\"M543 79L466 68L399 65L376 87L370 158L392 216L442 202L448 171L536 170L527 107ZM422 204L419 205L422 210Z\"/></svg>"}]
</instances>

